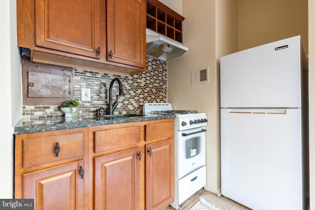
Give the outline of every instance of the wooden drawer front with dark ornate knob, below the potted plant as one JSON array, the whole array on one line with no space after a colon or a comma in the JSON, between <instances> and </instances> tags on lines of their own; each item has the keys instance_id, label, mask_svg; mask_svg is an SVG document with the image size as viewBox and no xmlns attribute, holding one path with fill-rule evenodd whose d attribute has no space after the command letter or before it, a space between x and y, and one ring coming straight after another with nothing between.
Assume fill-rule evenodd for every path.
<instances>
[{"instance_id":1,"label":"wooden drawer front with dark ornate knob, below the potted plant","mask_svg":"<svg viewBox=\"0 0 315 210\"><path fill-rule=\"evenodd\" d=\"M55 153L56 143L60 147L58 156ZM23 140L24 168L82 155L84 155L84 133Z\"/></svg>"}]
</instances>

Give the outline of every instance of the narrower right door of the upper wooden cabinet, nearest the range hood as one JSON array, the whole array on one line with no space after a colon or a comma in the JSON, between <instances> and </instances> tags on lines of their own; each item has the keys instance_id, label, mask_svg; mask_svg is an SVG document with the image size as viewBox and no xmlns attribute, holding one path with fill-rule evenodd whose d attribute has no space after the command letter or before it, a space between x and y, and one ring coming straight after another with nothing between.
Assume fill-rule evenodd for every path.
<instances>
[{"instance_id":1,"label":"narrower right door of the upper wooden cabinet, nearest the range hood","mask_svg":"<svg viewBox=\"0 0 315 210\"><path fill-rule=\"evenodd\" d=\"M145 68L145 0L107 0L107 60Z\"/></svg>"}]
</instances>

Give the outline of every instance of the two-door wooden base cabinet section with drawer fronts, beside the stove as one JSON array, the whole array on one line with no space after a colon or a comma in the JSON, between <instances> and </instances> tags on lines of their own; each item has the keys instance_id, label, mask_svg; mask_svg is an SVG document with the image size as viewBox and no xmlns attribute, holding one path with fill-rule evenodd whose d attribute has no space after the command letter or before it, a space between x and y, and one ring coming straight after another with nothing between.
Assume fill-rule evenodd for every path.
<instances>
[{"instance_id":1,"label":"two-door wooden base cabinet section with drawer fronts, beside the stove","mask_svg":"<svg viewBox=\"0 0 315 210\"><path fill-rule=\"evenodd\" d=\"M90 152L95 210L163 210L174 201L174 119L91 127Z\"/></svg>"}]
</instances>

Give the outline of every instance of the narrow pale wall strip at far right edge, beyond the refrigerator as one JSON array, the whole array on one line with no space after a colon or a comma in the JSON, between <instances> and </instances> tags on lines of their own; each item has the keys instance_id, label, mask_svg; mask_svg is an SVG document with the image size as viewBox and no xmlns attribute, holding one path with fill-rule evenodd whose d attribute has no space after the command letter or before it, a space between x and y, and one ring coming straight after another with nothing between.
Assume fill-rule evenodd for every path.
<instances>
[{"instance_id":1,"label":"narrow pale wall strip at far right edge, beyond the refrigerator","mask_svg":"<svg viewBox=\"0 0 315 210\"><path fill-rule=\"evenodd\" d=\"M315 0L309 0L310 210L315 210Z\"/></svg>"}]
</instances>

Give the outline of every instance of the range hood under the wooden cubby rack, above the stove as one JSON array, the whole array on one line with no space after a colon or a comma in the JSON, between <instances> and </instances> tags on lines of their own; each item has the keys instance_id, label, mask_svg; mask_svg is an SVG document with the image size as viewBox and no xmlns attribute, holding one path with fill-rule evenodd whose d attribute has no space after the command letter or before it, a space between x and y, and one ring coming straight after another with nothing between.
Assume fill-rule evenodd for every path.
<instances>
[{"instance_id":1,"label":"range hood under the wooden cubby rack, above the stove","mask_svg":"<svg viewBox=\"0 0 315 210\"><path fill-rule=\"evenodd\" d=\"M183 55L188 48L182 43L146 29L146 53L163 61Z\"/></svg>"}]
</instances>

